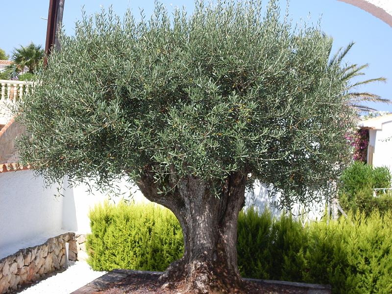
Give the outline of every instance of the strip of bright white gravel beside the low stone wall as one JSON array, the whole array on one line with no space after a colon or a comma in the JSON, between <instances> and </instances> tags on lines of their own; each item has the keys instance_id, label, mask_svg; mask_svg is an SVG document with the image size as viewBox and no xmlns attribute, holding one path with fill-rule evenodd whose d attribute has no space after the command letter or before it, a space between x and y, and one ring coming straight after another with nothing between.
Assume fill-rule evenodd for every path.
<instances>
[{"instance_id":1,"label":"strip of bright white gravel beside the low stone wall","mask_svg":"<svg viewBox=\"0 0 392 294\"><path fill-rule=\"evenodd\" d=\"M96 278L104 275L106 271L94 271L85 261L77 261L67 270L50 276L46 280L20 292L23 294L70 294L83 287Z\"/></svg>"}]
</instances>

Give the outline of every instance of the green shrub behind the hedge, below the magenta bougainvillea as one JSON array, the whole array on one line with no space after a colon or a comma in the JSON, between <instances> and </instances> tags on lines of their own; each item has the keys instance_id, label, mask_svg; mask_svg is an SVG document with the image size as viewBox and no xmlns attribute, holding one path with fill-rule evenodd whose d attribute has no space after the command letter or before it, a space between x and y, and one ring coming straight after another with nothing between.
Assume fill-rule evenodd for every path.
<instances>
[{"instance_id":1,"label":"green shrub behind the hedge, below the magenta bougainvillea","mask_svg":"<svg viewBox=\"0 0 392 294\"><path fill-rule=\"evenodd\" d=\"M374 168L361 162L354 162L342 174L339 187L339 202L344 210L365 212L369 215L373 209L381 214L392 209L391 193L383 191L373 195L374 188L391 187L391 172L386 167Z\"/></svg>"}]
</instances>

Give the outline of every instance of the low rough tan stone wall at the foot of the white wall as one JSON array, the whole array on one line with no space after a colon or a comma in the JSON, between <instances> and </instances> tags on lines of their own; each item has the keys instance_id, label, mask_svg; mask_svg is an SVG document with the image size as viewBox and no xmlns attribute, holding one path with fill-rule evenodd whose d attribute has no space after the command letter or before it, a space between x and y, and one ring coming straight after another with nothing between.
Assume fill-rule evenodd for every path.
<instances>
[{"instance_id":1,"label":"low rough tan stone wall at the foot of the white wall","mask_svg":"<svg viewBox=\"0 0 392 294\"><path fill-rule=\"evenodd\" d=\"M10 293L26 282L37 281L46 273L63 268L66 243L69 244L69 260L86 259L85 240L84 235L65 233L0 259L0 294Z\"/></svg>"}]
</instances>

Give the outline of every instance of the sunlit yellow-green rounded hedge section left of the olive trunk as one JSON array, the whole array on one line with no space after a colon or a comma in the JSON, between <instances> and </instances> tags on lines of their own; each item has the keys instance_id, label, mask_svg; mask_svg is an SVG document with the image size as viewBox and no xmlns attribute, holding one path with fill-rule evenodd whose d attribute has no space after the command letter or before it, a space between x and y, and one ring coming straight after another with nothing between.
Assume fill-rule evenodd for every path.
<instances>
[{"instance_id":1,"label":"sunlit yellow-green rounded hedge section left of the olive trunk","mask_svg":"<svg viewBox=\"0 0 392 294\"><path fill-rule=\"evenodd\" d=\"M182 256L181 227L167 209L105 203L90 211L89 264L95 270L165 270Z\"/></svg>"}]
</instances>

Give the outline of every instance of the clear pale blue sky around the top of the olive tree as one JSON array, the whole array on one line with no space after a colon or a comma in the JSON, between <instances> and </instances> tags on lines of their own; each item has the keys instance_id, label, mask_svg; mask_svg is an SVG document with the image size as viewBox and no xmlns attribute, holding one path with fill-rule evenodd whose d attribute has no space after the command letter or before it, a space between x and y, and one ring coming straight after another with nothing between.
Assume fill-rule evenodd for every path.
<instances>
[{"instance_id":1,"label":"clear pale blue sky around the top of the olive tree","mask_svg":"<svg viewBox=\"0 0 392 294\"><path fill-rule=\"evenodd\" d=\"M163 0L167 7L185 6L190 13L193 0ZM267 3L267 0L264 1ZM147 16L152 13L152 0L66 0L64 5L63 25L67 34L73 34L74 23L81 18L81 7L87 14L100 11L113 5L114 11L120 16L130 7L134 14L139 15L142 8ZM286 1L282 1L284 10ZM29 42L45 45L46 20L48 17L49 0L4 0L1 3L0 16L0 48L11 54L15 47L27 45ZM317 24L321 16L321 29L334 38L334 51L354 41L354 48L349 52L346 62L364 64L369 68L364 78L386 77L387 83L375 83L363 86L359 90L392 99L392 27L352 5L337 0L291 0L289 13L294 22L300 19ZM310 15L310 18L309 18ZM378 110L392 112L392 105L374 104L369 106Z\"/></svg>"}]
</instances>

